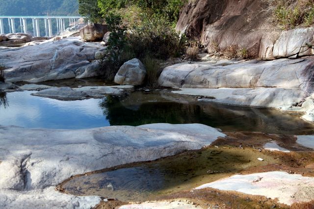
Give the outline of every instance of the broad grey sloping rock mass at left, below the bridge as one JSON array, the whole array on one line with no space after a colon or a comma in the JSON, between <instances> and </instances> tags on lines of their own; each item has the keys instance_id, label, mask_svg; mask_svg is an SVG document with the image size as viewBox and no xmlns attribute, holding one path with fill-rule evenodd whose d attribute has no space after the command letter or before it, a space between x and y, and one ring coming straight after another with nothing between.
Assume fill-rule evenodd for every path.
<instances>
[{"instance_id":1,"label":"broad grey sloping rock mass at left, below the bridge","mask_svg":"<svg viewBox=\"0 0 314 209\"><path fill-rule=\"evenodd\" d=\"M6 81L41 82L100 75L95 53L99 43L85 43L78 37L47 41L40 45L0 50L0 63L6 67Z\"/></svg>"}]
</instances>

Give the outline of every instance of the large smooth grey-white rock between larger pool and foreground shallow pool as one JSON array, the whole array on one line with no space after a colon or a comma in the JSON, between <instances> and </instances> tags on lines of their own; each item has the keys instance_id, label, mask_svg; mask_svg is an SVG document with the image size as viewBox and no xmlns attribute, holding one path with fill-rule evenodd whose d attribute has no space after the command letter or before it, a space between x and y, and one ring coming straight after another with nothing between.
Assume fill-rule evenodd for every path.
<instances>
[{"instance_id":1,"label":"large smooth grey-white rock between larger pool and foreground shallow pool","mask_svg":"<svg viewBox=\"0 0 314 209\"><path fill-rule=\"evenodd\" d=\"M77 174L200 149L219 136L225 135L201 124L89 130L0 126L0 208L91 208L99 197L61 194L54 186Z\"/></svg>"}]
</instances>

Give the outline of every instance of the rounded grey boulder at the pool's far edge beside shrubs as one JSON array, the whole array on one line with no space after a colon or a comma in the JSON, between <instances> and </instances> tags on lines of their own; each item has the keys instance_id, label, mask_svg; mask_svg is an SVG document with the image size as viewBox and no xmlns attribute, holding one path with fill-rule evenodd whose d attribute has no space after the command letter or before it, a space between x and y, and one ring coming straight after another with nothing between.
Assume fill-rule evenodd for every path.
<instances>
[{"instance_id":1,"label":"rounded grey boulder at the pool's far edge beside shrubs","mask_svg":"<svg viewBox=\"0 0 314 209\"><path fill-rule=\"evenodd\" d=\"M124 63L114 78L114 82L123 85L143 85L146 77L143 63L134 58Z\"/></svg>"}]
</instances>

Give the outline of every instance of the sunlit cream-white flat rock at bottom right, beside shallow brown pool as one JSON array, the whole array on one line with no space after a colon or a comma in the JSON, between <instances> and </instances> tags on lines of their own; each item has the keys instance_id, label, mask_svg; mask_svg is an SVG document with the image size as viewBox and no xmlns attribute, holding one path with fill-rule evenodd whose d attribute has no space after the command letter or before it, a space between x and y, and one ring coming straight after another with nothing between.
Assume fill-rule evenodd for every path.
<instances>
[{"instance_id":1,"label":"sunlit cream-white flat rock at bottom right, beside shallow brown pool","mask_svg":"<svg viewBox=\"0 0 314 209\"><path fill-rule=\"evenodd\" d=\"M250 175L235 175L197 187L231 190L267 198L278 198L280 203L291 205L296 202L314 200L314 178L299 174L274 171Z\"/></svg>"}]
</instances>

